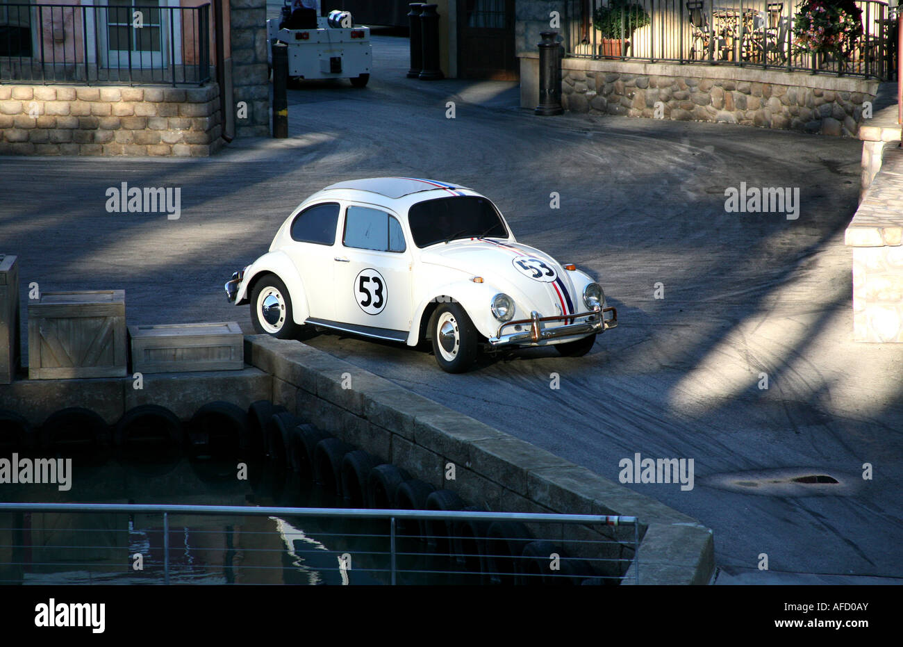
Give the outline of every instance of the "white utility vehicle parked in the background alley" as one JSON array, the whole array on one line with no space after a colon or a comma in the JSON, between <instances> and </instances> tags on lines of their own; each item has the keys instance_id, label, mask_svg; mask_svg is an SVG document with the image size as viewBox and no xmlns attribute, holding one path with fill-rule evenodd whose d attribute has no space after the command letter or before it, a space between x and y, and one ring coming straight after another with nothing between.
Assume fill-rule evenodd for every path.
<instances>
[{"instance_id":1,"label":"white utility vehicle parked in the background alley","mask_svg":"<svg viewBox=\"0 0 903 647\"><path fill-rule=\"evenodd\" d=\"M310 0L308 0L310 1ZM323 17L301 0L284 0L282 17L266 21L269 42L275 38L288 46L289 79L349 79L363 88L370 79L373 48L370 28L355 26L351 14L335 10ZM266 48L272 69L273 51Z\"/></svg>"}]
</instances>

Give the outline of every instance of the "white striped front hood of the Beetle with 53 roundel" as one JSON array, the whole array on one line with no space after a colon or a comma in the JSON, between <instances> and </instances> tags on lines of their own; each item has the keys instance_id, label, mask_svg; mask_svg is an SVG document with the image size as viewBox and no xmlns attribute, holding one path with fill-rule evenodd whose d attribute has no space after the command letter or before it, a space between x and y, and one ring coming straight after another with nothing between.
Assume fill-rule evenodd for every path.
<instances>
[{"instance_id":1,"label":"white striped front hood of the Beetle with 53 roundel","mask_svg":"<svg viewBox=\"0 0 903 647\"><path fill-rule=\"evenodd\" d=\"M548 267L545 270L538 262ZM526 267L515 265L521 260ZM576 294L570 272L539 249L507 240L467 239L426 249L421 262L451 267L483 279L515 300L515 317L523 319L535 310L540 316L582 312L582 296ZM531 269L535 267L535 269ZM554 277L548 275L554 272ZM542 274L543 280L533 276Z\"/></svg>"}]
</instances>

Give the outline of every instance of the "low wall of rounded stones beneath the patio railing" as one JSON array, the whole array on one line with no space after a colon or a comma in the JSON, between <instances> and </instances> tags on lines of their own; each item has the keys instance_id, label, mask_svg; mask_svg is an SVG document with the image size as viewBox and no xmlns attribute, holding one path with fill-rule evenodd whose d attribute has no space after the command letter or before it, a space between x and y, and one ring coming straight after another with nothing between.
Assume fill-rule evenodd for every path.
<instances>
[{"instance_id":1,"label":"low wall of rounded stones beneath the patio railing","mask_svg":"<svg viewBox=\"0 0 903 647\"><path fill-rule=\"evenodd\" d=\"M778 70L579 59L562 68L562 104L574 112L833 136L856 136L877 90L876 81Z\"/></svg>"}]
</instances>

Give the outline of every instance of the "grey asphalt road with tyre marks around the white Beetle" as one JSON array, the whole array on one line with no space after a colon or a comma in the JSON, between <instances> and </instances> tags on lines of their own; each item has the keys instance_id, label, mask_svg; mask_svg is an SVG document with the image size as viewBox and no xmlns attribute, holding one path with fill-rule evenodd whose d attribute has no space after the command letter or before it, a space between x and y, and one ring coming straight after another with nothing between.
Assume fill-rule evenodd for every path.
<instances>
[{"instance_id":1,"label":"grey asphalt road with tyre marks around the white Beetle","mask_svg":"<svg viewBox=\"0 0 903 647\"><path fill-rule=\"evenodd\" d=\"M517 239L598 277L619 328L580 359L513 352L457 376L388 343L312 345L615 481L636 453L694 459L691 491L627 486L714 530L720 583L903 582L903 347L852 343L842 244L860 143L535 117L510 83L405 79L406 48L376 37L367 89L292 89L286 140L189 161L0 158L0 250L20 256L23 290L125 288L130 324L236 319L250 331L222 283L305 196L374 175L463 183ZM121 182L181 187L181 218L107 213ZM740 183L798 187L798 219L726 212L724 190ZM787 483L806 474L838 483Z\"/></svg>"}]
</instances>

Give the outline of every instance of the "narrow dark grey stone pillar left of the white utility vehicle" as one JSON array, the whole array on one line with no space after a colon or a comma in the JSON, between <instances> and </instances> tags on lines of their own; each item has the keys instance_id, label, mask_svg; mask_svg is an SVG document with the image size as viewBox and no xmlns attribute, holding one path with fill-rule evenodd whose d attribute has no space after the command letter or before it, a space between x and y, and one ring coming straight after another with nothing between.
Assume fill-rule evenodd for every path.
<instances>
[{"instance_id":1,"label":"narrow dark grey stone pillar left of the white utility vehicle","mask_svg":"<svg viewBox=\"0 0 903 647\"><path fill-rule=\"evenodd\" d=\"M270 134L270 83L266 51L266 1L229 0L230 44L232 48L232 86L237 110L240 101L247 104L247 117L235 120L235 134ZM242 113L243 114L243 113Z\"/></svg>"}]
</instances>

